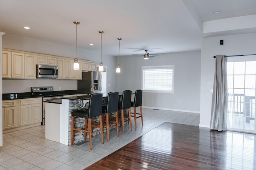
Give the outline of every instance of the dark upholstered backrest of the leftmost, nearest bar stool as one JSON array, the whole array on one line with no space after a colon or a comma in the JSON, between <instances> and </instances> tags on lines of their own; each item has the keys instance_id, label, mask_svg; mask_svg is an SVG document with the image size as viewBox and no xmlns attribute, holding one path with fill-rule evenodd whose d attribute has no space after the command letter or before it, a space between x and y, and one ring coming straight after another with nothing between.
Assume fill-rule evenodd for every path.
<instances>
[{"instance_id":1,"label":"dark upholstered backrest of the leftmost, nearest bar stool","mask_svg":"<svg viewBox=\"0 0 256 170\"><path fill-rule=\"evenodd\" d=\"M98 117L102 114L102 93L90 95L88 118Z\"/></svg>"}]
</instances>

